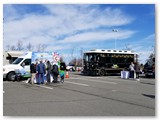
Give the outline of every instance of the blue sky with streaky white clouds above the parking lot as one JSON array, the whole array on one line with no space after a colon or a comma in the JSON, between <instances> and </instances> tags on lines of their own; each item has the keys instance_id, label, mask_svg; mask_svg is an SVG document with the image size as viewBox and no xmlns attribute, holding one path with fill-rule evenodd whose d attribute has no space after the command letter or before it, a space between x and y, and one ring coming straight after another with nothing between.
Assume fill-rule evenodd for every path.
<instances>
[{"instance_id":1,"label":"blue sky with streaky white clouds above the parking lot","mask_svg":"<svg viewBox=\"0 0 160 120\"><path fill-rule=\"evenodd\" d=\"M46 44L66 62L91 49L129 48L144 63L155 46L154 4L4 4L3 48ZM113 32L117 29L118 32Z\"/></svg>"}]
</instances>

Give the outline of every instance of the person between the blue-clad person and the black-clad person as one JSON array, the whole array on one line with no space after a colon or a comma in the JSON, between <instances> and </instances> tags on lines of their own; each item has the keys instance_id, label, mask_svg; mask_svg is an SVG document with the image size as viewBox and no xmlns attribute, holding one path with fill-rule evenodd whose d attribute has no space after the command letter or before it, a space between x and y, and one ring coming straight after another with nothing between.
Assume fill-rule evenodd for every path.
<instances>
[{"instance_id":1,"label":"person between the blue-clad person and the black-clad person","mask_svg":"<svg viewBox=\"0 0 160 120\"><path fill-rule=\"evenodd\" d=\"M46 64L46 74L47 74L46 77L47 77L47 82L48 83L51 82L51 69L52 69L51 63L48 60L47 64Z\"/></svg>"}]
</instances>

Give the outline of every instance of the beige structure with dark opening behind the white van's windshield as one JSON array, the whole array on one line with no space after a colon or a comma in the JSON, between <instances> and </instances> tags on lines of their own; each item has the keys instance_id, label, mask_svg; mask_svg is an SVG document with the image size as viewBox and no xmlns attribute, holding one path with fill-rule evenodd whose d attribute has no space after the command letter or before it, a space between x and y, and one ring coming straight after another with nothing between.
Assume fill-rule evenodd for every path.
<instances>
[{"instance_id":1,"label":"beige structure with dark opening behind the white van's windshield","mask_svg":"<svg viewBox=\"0 0 160 120\"><path fill-rule=\"evenodd\" d=\"M3 65L11 64L23 53L23 51L3 51Z\"/></svg>"}]
</instances>

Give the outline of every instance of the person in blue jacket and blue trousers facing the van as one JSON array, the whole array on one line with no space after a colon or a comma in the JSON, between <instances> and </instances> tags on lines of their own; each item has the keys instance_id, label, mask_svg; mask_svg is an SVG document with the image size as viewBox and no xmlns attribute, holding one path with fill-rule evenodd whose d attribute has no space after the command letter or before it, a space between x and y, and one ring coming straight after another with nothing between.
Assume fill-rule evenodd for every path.
<instances>
[{"instance_id":1,"label":"person in blue jacket and blue trousers facing the van","mask_svg":"<svg viewBox=\"0 0 160 120\"><path fill-rule=\"evenodd\" d=\"M40 85L41 83L44 84L44 74L46 74L46 69L45 65L40 61L40 63L37 65L36 72L38 74L38 84Z\"/></svg>"}]
</instances>

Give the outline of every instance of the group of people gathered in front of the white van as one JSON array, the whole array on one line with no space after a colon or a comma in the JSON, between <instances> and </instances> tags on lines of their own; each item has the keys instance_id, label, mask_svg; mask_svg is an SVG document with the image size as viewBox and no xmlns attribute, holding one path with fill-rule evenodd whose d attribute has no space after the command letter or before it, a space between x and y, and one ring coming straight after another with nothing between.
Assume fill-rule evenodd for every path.
<instances>
[{"instance_id":1,"label":"group of people gathered in front of the white van","mask_svg":"<svg viewBox=\"0 0 160 120\"><path fill-rule=\"evenodd\" d=\"M62 69L63 68L63 69ZM40 60L39 63L32 63L30 65L30 72L31 72L31 79L30 83L34 83L34 79L36 78L37 83L44 84L45 83L45 76L47 83L51 83L51 77L53 77L53 83L58 82L58 75L61 76L61 82L64 82L64 71L65 71L65 63L60 63L60 68L56 63L53 63L53 65L50 63L49 60L46 60L45 63L43 63L42 60ZM63 73L63 74L62 74Z\"/></svg>"}]
</instances>

